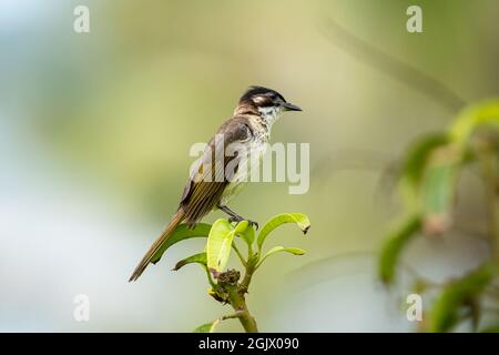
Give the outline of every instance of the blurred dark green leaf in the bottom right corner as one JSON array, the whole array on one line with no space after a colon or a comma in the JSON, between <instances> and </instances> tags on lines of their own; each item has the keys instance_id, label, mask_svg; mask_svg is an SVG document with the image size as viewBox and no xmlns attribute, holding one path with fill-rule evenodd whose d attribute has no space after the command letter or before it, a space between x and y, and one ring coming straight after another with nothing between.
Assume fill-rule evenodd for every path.
<instances>
[{"instance_id":1,"label":"blurred dark green leaf in the bottom right corner","mask_svg":"<svg viewBox=\"0 0 499 355\"><path fill-rule=\"evenodd\" d=\"M450 283L430 310L429 331L451 331L459 323L460 311L481 294L493 275L495 267L488 263Z\"/></svg>"}]
</instances>

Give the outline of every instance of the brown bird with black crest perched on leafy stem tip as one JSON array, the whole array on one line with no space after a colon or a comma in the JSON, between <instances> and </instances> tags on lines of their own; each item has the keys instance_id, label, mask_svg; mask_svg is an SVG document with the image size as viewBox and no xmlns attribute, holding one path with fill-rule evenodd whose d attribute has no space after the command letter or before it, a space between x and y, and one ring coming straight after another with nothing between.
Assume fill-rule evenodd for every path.
<instances>
[{"instance_id":1,"label":"brown bird with black crest perched on leafy stem tip","mask_svg":"<svg viewBox=\"0 0 499 355\"><path fill-rule=\"evenodd\" d=\"M285 111L302 109L287 102L277 91L264 87L252 85L243 93L233 116L218 128L191 170L175 214L142 257L129 282L142 275L154 254L182 222L194 227L211 211L221 210L230 216L230 222L248 221L258 227L256 222L232 211L227 203L245 185L249 159L251 169L259 164L271 139L272 126ZM221 139L223 144L218 143ZM241 150L227 154L225 149L232 145ZM231 173L227 173L230 166Z\"/></svg>"}]
</instances>

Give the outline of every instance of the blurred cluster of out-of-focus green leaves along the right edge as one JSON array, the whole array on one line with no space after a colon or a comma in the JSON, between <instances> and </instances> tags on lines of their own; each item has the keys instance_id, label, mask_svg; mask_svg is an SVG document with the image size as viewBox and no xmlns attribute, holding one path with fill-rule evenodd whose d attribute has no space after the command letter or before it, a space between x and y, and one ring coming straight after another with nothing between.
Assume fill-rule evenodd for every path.
<instances>
[{"instance_id":1,"label":"blurred cluster of out-of-focus green leaves along the right edge","mask_svg":"<svg viewBox=\"0 0 499 355\"><path fill-rule=\"evenodd\" d=\"M451 229L459 176L473 165L482 168L491 215L490 242L496 250L490 262L441 286L428 314L428 331L450 331L469 316L477 323L479 300L491 286L499 266L499 100L465 109L447 131L427 134L407 151L398 182L404 214L387 233L378 263L378 275L385 284L394 283L410 241Z\"/></svg>"}]
</instances>

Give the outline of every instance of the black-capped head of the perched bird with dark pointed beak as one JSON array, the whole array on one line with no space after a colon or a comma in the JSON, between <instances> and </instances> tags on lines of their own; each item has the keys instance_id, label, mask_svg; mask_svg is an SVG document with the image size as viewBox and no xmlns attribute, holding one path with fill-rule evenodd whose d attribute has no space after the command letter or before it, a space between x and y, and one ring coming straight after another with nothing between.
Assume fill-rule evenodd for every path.
<instances>
[{"instance_id":1,"label":"black-capped head of the perched bird with dark pointed beak","mask_svg":"<svg viewBox=\"0 0 499 355\"><path fill-rule=\"evenodd\" d=\"M284 111L302 111L297 105L287 102L277 91L263 87L249 87L241 97L238 106L248 106L257 111L269 123L274 123Z\"/></svg>"}]
</instances>

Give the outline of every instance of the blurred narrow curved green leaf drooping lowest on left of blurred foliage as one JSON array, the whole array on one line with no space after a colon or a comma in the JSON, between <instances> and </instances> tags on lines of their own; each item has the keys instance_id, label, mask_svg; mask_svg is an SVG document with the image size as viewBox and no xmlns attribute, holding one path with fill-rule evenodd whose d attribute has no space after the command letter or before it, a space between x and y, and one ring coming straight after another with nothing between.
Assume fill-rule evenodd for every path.
<instances>
[{"instance_id":1,"label":"blurred narrow curved green leaf drooping lowest on left of blurred foliage","mask_svg":"<svg viewBox=\"0 0 499 355\"><path fill-rule=\"evenodd\" d=\"M421 229L421 217L415 214L406 219L387 237L379 258L378 274L381 281L389 284L395 278L400 253L414 235Z\"/></svg>"}]
</instances>

